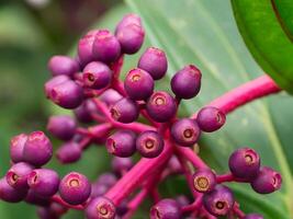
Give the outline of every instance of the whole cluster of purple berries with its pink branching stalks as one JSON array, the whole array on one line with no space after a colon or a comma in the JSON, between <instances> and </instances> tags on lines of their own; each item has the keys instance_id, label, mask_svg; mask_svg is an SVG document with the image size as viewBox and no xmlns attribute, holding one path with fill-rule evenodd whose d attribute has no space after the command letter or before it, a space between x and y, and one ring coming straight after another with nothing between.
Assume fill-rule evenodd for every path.
<instances>
[{"instance_id":1,"label":"whole cluster of purple berries with its pink branching stalks","mask_svg":"<svg viewBox=\"0 0 293 219\"><path fill-rule=\"evenodd\" d=\"M260 166L253 149L240 148L229 158L230 172L221 175L190 149L198 147L201 132L218 130L227 113L205 106L195 116L178 118L181 100L200 92L202 74L195 66L174 73L173 94L156 91L155 82L165 77L168 61L164 50L149 47L137 67L120 80L123 56L137 53L144 36L140 19L128 14L114 34L87 33L78 43L77 58L54 56L48 62L53 78L45 83L46 96L75 113L75 118L56 115L48 120L47 130L64 141L57 159L63 164L77 162L89 146L105 145L113 155L113 171L93 183L78 172L59 177L42 168L53 155L46 135L21 134L11 140L12 165L0 180L0 198L37 205L42 219L60 218L70 208L84 210L88 219L126 219L148 195L155 203L151 219L261 219L257 214L245 215L223 183L250 183L255 192L268 194L281 187L278 172ZM136 152L143 158L135 164L131 157ZM194 201L185 196L160 197L157 185L174 174L185 175Z\"/></svg>"}]
</instances>

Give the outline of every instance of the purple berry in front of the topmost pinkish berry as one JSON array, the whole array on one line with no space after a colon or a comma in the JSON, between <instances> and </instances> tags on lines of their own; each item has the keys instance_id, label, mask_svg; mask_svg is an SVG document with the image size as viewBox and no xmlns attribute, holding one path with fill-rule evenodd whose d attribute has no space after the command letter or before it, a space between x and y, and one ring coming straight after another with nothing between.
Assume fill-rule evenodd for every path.
<instances>
[{"instance_id":1,"label":"purple berry in front of the topmost pinkish berry","mask_svg":"<svg viewBox=\"0 0 293 219\"><path fill-rule=\"evenodd\" d=\"M145 31L142 25L135 23L120 27L115 36L124 54L135 54L143 46Z\"/></svg>"}]
</instances>

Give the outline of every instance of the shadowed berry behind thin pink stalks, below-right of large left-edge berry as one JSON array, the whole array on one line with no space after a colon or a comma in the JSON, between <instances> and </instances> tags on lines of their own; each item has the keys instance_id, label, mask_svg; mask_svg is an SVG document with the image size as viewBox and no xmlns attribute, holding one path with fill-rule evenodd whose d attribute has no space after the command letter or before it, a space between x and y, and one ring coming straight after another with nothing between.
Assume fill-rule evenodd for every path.
<instances>
[{"instance_id":1,"label":"shadowed berry behind thin pink stalks, below-right of large left-edge berry","mask_svg":"<svg viewBox=\"0 0 293 219\"><path fill-rule=\"evenodd\" d=\"M76 118L80 123L91 123L92 114L98 113L95 104L91 100L86 100L80 106L75 110Z\"/></svg>"}]
</instances>

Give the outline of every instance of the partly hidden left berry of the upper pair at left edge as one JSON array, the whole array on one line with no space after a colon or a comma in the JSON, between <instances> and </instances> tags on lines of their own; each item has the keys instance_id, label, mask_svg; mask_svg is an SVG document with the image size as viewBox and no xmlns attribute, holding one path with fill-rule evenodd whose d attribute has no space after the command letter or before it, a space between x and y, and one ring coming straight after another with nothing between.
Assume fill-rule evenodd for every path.
<instances>
[{"instance_id":1,"label":"partly hidden left berry of the upper pair at left edge","mask_svg":"<svg viewBox=\"0 0 293 219\"><path fill-rule=\"evenodd\" d=\"M27 140L27 135L20 134L14 136L10 141L10 158L14 163L24 161L23 147Z\"/></svg>"}]
</instances>

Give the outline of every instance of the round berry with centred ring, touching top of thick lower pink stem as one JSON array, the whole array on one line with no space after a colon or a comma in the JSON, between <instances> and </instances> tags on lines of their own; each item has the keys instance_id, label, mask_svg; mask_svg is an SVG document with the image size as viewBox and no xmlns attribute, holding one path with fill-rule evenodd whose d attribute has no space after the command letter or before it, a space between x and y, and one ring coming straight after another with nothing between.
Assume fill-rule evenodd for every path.
<instances>
[{"instance_id":1,"label":"round berry with centred ring, touching top of thick lower pink stem","mask_svg":"<svg viewBox=\"0 0 293 219\"><path fill-rule=\"evenodd\" d=\"M137 137L136 150L144 158L156 158L164 150L164 139L157 131L146 130Z\"/></svg>"}]
</instances>

